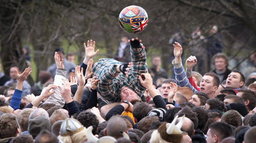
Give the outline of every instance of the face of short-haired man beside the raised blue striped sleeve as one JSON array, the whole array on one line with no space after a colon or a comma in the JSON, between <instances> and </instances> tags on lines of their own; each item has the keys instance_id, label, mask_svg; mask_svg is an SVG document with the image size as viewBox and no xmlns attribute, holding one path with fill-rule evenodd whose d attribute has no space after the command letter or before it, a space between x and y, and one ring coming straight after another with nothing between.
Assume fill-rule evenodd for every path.
<instances>
[{"instance_id":1,"label":"face of short-haired man beside the raised blue striped sleeve","mask_svg":"<svg viewBox=\"0 0 256 143\"><path fill-rule=\"evenodd\" d=\"M214 78L209 75L204 75L200 82L200 91L210 95L217 90L216 86L214 86Z\"/></svg>"}]
</instances>

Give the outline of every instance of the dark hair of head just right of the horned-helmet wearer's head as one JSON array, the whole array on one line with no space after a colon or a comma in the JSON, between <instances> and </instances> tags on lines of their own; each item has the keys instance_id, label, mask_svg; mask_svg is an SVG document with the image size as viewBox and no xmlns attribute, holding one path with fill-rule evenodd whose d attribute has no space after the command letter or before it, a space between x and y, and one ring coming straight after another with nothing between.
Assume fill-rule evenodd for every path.
<instances>
[{"instance_id":1,"label":"dark hair of head just right of the horned-helmet wearer's head","mask_svg":"<svg viewBox=\"0 0 256 143\"><path fill-rule=\"evenodd\" d=\"M198 121L200 121L198 122L197 129L203 130L208 120L208 112L202 107L193 107L192 111L197 113Z\"/></svg>"}]
</instances>

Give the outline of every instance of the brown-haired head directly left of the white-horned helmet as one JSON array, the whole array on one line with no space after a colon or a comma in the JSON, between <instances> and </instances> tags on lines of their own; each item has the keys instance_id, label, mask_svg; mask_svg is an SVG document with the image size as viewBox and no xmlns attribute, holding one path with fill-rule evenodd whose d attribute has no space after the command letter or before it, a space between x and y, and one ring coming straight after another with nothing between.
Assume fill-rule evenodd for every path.
<instances>
[{"instance_id":1,"label":"brown-haired head directly left of the white-horned helmet","mask_svg":"<svg viewBox=\"0 0 256 143\"><path fill-rule=\"evenodd\" d=\"M146 133L150 130L150 126L155 121L159 121L159 118L156 116L147 116L147 117L143 118L142 120L140 120L140 122L138 123L137 129Z\"/></svg>"}]
</instances>

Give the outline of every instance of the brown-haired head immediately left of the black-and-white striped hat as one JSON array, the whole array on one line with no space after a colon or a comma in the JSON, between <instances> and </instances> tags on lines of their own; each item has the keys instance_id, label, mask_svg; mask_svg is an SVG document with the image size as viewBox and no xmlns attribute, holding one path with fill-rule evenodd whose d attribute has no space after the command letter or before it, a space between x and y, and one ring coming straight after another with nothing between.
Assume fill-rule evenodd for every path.
<instances>
[{"instance_id":1,"label":"brown-haired head immediately left of the black-and-white striped hat","mask_svg":"<svg viewBox=\"0 0 256 143\"><path fill-rule=\"evenodd\" d=\"M133 117L137 119L137 122L140 122L151 110L152 107L145 102L136 103L133 106Z\"/></svg>"}]
</instances>

